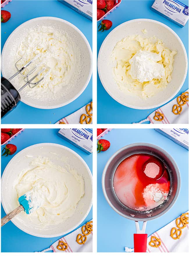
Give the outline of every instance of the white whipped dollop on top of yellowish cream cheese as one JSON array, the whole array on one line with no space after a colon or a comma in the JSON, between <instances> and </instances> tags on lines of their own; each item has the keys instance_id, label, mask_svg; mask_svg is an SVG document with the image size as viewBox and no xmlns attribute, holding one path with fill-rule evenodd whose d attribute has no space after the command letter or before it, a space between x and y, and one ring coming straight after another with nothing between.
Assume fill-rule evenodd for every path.
<instances>
[{"instance_id":1,"label":"white whipped dollop on top of yellowish cream cheese","mask_svg":"<svg viewBox=\"0 0 189 256\"><path fill-rule=\"evenodd\" d=\"M162 59L161 52L138 51L129 60L131 68L129 74L139 82L147 82L152 79L161 79L165 76L163 64L158 63Z\"/></svg>"}]
</instances>

